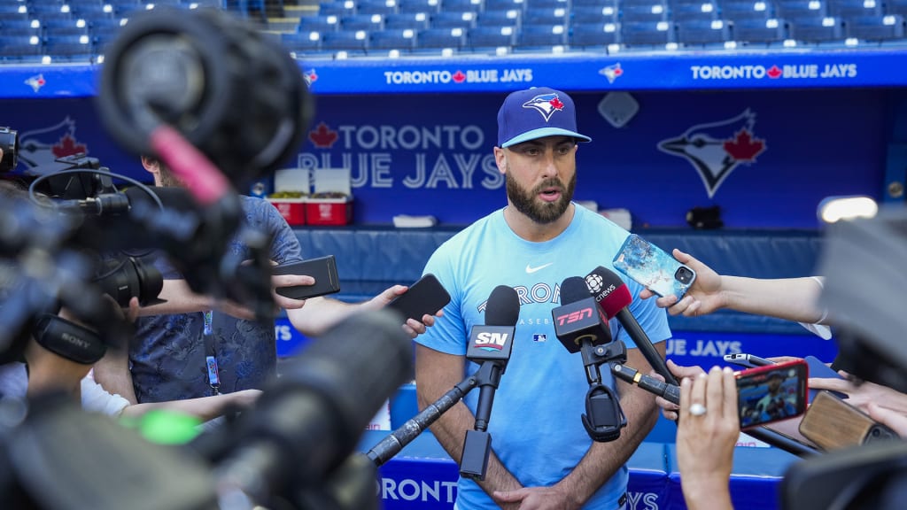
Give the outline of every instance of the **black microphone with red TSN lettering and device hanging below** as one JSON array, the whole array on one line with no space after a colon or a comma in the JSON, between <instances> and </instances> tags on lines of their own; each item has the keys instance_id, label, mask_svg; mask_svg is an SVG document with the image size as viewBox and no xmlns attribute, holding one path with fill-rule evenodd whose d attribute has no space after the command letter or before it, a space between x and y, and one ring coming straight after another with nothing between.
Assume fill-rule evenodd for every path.
<instances>
[{"instance_id":1,"label":"black microphone with red TSN lettering and device hanging below","mask_svg":"<svg viewBox=\"0 0 907 510\"><path fill-rule=\"evenodd\" d=\"M620 408L617 394L601 382L599 366L627 361L627 348L611 338L608 319L591 297L586 280L578 276L561 283L561 306L551 310L554 334L571 353L582 353L589 392L582 425L594 441L614 441L620 429L627 427L627 417Z\"/></svg>"}]
</instances>

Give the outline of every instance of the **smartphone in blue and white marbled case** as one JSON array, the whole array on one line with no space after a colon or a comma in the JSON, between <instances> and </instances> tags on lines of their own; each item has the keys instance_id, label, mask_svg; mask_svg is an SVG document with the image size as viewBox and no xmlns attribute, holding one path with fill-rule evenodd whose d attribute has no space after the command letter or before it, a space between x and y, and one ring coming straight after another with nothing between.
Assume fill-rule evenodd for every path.
<instances>
[{"instance_id":1,"label":"smartphone in blue and white marbled case","mask_svg":"<svg viewBox=\"0 0 907 510\"><path fill-rule=\"evenodd\" d=\"M696 271L637 234L629 235L612 263L614 269L661 297L683 298L696 280Z\"/></svg>"}]
</instances>

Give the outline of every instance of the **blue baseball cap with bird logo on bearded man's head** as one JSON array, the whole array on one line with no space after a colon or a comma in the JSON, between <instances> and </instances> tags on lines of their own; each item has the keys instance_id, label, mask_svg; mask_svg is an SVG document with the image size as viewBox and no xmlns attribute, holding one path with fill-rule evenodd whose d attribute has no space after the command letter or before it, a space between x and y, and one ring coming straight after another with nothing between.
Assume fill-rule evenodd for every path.
<instances>
[{"instance_id":1,"label":"blue baseball cap with bird logo on bearded man's head","mask_svg":"<svg viewBox=\"0 0 907 510\"><path fill-rule=\"evenodd\" d=\"M558 135L592 141L576 131L576 107L566 93L548 87L517 91L498 110L498 147Z\"/></svg>"}]
</instances>

